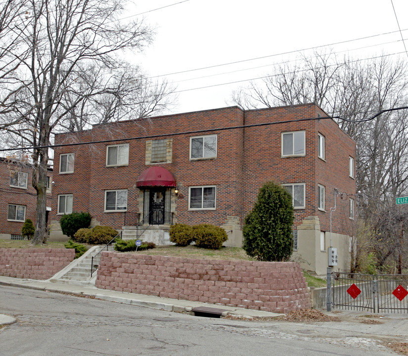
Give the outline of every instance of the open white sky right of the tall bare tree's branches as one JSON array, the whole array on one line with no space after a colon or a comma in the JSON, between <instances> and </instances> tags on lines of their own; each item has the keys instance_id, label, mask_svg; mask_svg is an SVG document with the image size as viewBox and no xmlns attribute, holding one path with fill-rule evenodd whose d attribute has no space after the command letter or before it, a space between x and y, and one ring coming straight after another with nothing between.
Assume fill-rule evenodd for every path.
<instances>
[{"instance_id":1,"label":"open white sky right of the tall bare tree's branches","mask_svg":"<svg viewBox=\"0 0 408 356\"><path fill-rule=\"evenodd\" d=\"M246 83L220 84L264 76L273 64L297 56L279 53L381 35L327 49L340 56L348 51L354 58L402 52L400 56L408 59L393 10L394 4L408 48L408 0L181 1L136 0L129 11L130 16L176 3L142 15L157 35L136 57L149 76L166 75L181 91L173 113L232 105L232 90ZM269 57L170 75L265 56ZM207 86L215 87L195 89Z\"/></svg>"}]
</instances>

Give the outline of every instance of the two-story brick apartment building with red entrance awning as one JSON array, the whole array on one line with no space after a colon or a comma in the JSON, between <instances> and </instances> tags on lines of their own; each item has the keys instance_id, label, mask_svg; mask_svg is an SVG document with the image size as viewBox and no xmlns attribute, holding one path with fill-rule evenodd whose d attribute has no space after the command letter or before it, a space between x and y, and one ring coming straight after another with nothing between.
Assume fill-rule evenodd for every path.
<instances>
[{"instance_id":1,"label":"two-story brick apartment building with red entrance awning","mask_svg":"<svg viewBox=\"0 0 408 356\"><path fill-rule=\"evenodd\" d=\"M170 216L170 223L222 226L227 243L240 246L258 189L274 180L293 196L299 260L319 274L327 266L336 199L332 243L338 268L347 269L356 145L333 120L318 119L326 116L315 104L227 107L57 134L57 145L99 143L55 148L52 233L60 233L62 214L83 211L91 213L93 224L131 236L135 214L140 221L154 211L149 223L164 231L164 239ZM143 239L154 240L156 232Z\"/></svg>"}]
</instances>

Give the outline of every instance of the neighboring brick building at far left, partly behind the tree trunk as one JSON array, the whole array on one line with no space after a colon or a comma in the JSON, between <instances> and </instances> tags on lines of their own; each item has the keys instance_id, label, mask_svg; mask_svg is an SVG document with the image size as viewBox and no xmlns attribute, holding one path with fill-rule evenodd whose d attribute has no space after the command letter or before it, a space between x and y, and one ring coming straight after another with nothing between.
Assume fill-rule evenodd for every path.
<instances>
[{"instance_id":1,"label":"neighboring brick building at far left, partly behind the tree trunk","mask_svg":"<svg viewBox=\"0 0 408 356\"><path fill-rule=\"evenodd\" d=\"M47 187L47 216L51 210L52 171ZM0 238L21 239L26 219L36 223L37 193L32 184L32 167L14 158L0 158Z\"/></svg>"}]
</instances>

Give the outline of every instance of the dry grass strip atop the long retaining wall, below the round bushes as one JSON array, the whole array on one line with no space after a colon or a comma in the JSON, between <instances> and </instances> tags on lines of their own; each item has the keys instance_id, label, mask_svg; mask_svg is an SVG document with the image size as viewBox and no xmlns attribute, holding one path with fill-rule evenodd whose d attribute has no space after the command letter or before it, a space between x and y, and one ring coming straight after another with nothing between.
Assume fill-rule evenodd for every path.
<instances>
[{"instance_id":1,"label":"dry grass strip atop the long retaining wall, below the round bushes","mask_svg":"<svg viewBox=\"0 0 408 356\"><path fill-rule=\"evenodd\" d=\"M222 247L219 250L208 250L194 245L179 246L156 246L154 249L143 251L131 251L125 253L137 253L140 255L171 256L181 258L195 258L205 260L245 260L256 261L249 257L240 247Z\"/></svg>"}]
</instances>

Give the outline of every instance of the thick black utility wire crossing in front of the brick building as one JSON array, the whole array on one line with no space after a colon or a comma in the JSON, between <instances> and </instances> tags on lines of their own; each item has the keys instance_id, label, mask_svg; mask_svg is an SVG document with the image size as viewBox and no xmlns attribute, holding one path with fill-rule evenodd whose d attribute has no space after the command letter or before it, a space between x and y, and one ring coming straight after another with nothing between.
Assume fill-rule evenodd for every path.
<instances>
[{"instance_id":1,"label":"thick black utility wire crossing in front of the brick building","mask_svg":"<svg viewBox=\"0 0 408 356\"><path fill-rule=\"evenodd\" d=\"M263 126L271 126L271 125L278 125L278 124L289 124L294 122L303 122L303 121L315 121L315 120L325 120L325 119L339 119L347 122L353 123L361 123L375 119L378 115L388 112L388 111L396 111L396 110L404 110L408 109L408 106L393 108L393 109L385 109L381 110L374 116L368 119L362 120L350 120L343 118L341 116L322 116L322 117L315 117L315 118L306 118L306 119L296 119L296 120L284 120L284 121L272 121L268 123L261 123L261 124L252 124L252 125L239 125L239 126L230 126L224 128L217 128L217 129L206 129L206 130L195 130L195 131L184 131L181 133L172 133L172 134L155 134L155 135L147 135L147 136L137 136L137 137L128 137L128 138L116 138L116 139L109 139L109 140L99 140L99 141L90 141L90 142L74 142L74 143L61 143L57 145L47 145L47 146L32 146L32 147L19 147L19 148L4 148L0 149L0 152L3 151L18 151L18 150L30 150L30 149L39 149L39 148L54 148L54 147L66 147L66 146L82 146L87 144L95 144L95 143L109 143L109 142L122 142L122 141L133 141L138 139L146 139L146 138L157 138L157 137L172 137L172 136L179 136L184 134L202 134L208 132L215 132L215 131L227 131L227 130L237 130L237 129L248 129L248 128L255 128L255 127L263 127Z\"/></svg>"}]
</instances>

